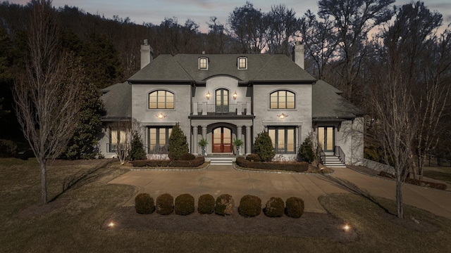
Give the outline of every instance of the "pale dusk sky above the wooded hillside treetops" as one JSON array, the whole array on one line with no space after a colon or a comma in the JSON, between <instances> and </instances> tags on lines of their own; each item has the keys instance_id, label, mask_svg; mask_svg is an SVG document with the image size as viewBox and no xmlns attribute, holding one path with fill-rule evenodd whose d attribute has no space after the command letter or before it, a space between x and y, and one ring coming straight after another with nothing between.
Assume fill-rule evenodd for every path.
<instances>
[{"instance_id":1,"label":"pale dusk sky above the wooded hillside treetops","mask_svg":"<svg viewBox=\"0 0 451 253\"><path fill-rule=\"evenodd\" d=\"M10 0L14 4L27 4L28 0ZM300 18L310 9L318 11L317 0L285 0L282 2L274 0L254 0L250 1L254 8L268 12L272 5L285 4L288 8L293 8ZM396 1L396 5L409 3L410 0ZM53 4L59 6L78 6L87 13L104 15L105 18L112 18L118 15L121 18L129 17L132 22L142 24L151 22L159 25L164 18L178 18L179 24L184 24L187 18L191 18L199 24L200 30L206 32L206 22L210 16L218 17L219 22L226 24L230 12L237 6L243 6L245 0L54 0ZM443 14L444 24L451 22L451 1L449 0L426 0L425 5L433 11Z\"/></svg>"}]
</instances>

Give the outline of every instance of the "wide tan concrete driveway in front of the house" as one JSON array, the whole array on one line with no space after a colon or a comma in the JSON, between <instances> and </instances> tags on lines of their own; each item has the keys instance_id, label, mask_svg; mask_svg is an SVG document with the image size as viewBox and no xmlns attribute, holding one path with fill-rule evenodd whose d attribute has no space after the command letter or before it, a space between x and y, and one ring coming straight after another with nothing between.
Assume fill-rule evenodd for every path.
<instances>
[{"instance_id":1,"label":"wide tan concrete driveway in front of the house","mask_svg":"<svg viewBox=\"0 0 451 253\"><path fill-rule=\"evenodd\" d=\"M301 197L305 212L326 210L318 201L328 193L362 193L395 200L395 182L361 174L348 168L337 168L334 174L273 174L238 171L232 166L210 166L196 171L129 171L109 183L137 186L139 193L149 193L154 199L163 193L177 197L190 193L194 199L209 193L214 197L230 194L238 203L242 196L251 194L261 198L262 204L270 197ZM433 214L451 219L451 192L419 186L403 186L404 203L426 209ZM125 206L135 205L132 197Z\"/></svg>"}]
</instances>

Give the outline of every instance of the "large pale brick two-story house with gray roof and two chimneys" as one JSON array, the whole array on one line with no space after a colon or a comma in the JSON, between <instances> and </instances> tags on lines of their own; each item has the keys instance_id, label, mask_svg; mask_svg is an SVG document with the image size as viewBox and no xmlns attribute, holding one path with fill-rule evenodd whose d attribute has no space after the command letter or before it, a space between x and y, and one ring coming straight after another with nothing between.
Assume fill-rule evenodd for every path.
<instances>
[{"instance_id":1,"label":"large pale brick two-story house with gray roof and two chimneys","mask_svg":"<svg viewBox=\"0 0 451 253\"><path fill-rule=\"evenodd\" d=\"M124 141L113 122L136 119L149 154L167 152L175 124L187 136L190 153L206 139L206 155L233 154L233 140L252 153L254 138L268 132L276 154L296 157L299 145L314 134L323 155L340 155L355 164L363 158L362 111L340 91L304 70L304 47L295 60L269 54L178 54L152 59L142 45L142 69L127 82L104 90L106 107L101 152L115 155Z\"/></svg>"}]
</instances>

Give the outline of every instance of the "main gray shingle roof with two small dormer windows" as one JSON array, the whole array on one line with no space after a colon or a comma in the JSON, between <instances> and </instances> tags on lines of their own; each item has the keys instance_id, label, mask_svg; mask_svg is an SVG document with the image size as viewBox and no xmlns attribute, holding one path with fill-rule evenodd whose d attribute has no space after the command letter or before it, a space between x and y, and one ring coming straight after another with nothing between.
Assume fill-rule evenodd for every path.
<instances>
[{"instance_id":1,"label":"main gray shingle roof with two small dormer windows","mask_svg":"<svg viewBox=\"0 0 451 253\"><path fill-rule=\"evenodd\" d=\"M247 70L237 70L237 58L247 58ZM199 58L209 59L208 70L199 70ZM217 75L235 77L241 84L260 82L312 83L316 79L285 55L178 54L160 55L128 79L136 82L187 82L204 84Z\"/></svg>"}]
</instances>

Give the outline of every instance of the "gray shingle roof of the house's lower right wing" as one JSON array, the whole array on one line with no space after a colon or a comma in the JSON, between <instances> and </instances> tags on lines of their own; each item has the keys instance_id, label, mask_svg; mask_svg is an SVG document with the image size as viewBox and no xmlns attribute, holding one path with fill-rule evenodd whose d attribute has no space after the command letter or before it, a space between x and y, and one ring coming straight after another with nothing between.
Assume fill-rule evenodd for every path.
<instances>
[{"instance_id":1,"label":"gray shingle roof of the house's lower right wing","mask_svg":"<svg viewBox=\"0 0 451 253\"><path fill-rule=\"evenodd\" d=\"M340 90L318 80L313 86L312 117L314 121L353 119L362 116L364 112L342 96Z\"/></svg>"}]
</instances>

